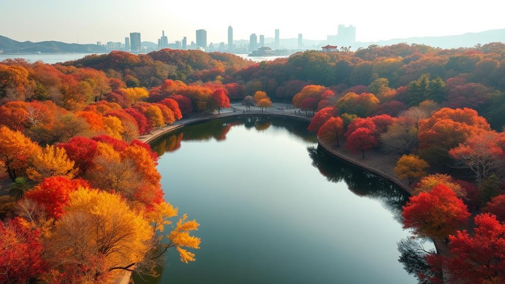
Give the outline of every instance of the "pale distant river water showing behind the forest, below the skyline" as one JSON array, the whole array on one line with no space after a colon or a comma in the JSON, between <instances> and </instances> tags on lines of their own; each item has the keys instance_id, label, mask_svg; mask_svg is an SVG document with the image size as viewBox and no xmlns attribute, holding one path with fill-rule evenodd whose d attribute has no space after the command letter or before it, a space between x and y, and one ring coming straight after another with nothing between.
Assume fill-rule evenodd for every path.
<instances>
[{"instance_id":1,"label":"pale distant river water showing behind the forest, below the skyline","mask_svg":"<svg viewBox=\"0 0 505 284\"><path fill-rule=\"evenodd\" d=\"M0 62L6 59L21 58L28 62L34 63L42 61L47 64L62 63L70 60L78 60L91 53L40 53L40 54L2 54L0 53ZM249 59L254 62L270 61L277 58L285 58L287 56L247 56L247 54L237 54L238 56Z\"/></svg>"}]
</instances>

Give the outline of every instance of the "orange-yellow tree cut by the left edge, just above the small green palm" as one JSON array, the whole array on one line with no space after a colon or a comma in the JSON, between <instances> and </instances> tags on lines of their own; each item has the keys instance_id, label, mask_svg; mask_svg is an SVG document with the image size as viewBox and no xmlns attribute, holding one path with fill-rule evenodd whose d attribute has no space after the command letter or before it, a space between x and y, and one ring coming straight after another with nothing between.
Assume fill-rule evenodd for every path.
<instances>
[{"instance_id":1,"label":"orange-yellow tree cut by the left edge, just above the small green palm","mask_svg":"<svg viewBox=\"0 0 505 284\"><path fill-rule=\"evenodd\" d=\"M12 181L26 171L30 158L38 151L40 147L21 132L0 127L0 168Z\"/></svg>"}]
</instances>

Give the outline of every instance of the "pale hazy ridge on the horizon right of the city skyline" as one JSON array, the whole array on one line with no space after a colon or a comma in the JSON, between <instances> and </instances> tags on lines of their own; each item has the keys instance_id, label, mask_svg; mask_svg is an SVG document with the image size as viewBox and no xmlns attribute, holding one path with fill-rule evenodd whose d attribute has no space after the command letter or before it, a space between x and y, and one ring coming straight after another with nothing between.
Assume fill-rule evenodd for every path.
<instances>
[{"instance_id":1,"label":"pale hazy ridge on the horizon right of the city skyline","mask_svg":"<svg viewBox=\"0 0 505 284\"><path fill-rule=\"evenodd\" d=\"M405 42L408 44L426 44L434 47L441 48L458 48L458 47L473 47L476 44L486 44L489 42L505 42L505 29L489 30L476 33L465 33L460 35L447 35L447 36L428 36L428 37L409 37L409 38L395 38L389 40L369 41L369 42L356 42L352 49L359 47L368 47L372 44L377 45L391 45L396 43Z\"/></svg>"}]
</instances>

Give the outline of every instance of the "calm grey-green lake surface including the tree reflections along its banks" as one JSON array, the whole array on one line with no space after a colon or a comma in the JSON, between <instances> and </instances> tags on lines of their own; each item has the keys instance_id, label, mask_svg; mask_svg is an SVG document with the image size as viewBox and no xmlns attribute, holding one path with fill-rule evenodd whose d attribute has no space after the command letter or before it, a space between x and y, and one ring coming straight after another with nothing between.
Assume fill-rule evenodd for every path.
<instances>
[{"instance_id":1,"label":"calm grey-green lake surface including the tree reflections along its banks","mask_svg":"<svg viewBox=\"0 0 505 284\"><path fill-rule=\"evenodd\" d=\"M202 241L196 261L172 250L148 283L416 283L397 261L405 193L318 149L306 128L229 118L154 141L166 200Z\"/></svg>"}]
</instances>

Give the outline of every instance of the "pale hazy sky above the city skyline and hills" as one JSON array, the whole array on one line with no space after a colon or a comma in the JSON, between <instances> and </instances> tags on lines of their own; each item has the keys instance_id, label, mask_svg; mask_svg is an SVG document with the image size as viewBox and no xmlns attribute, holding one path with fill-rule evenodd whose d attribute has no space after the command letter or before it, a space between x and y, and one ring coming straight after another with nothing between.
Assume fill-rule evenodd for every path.
<instances>
[{"instance_id":1,"label":"pale hazy sky above the city skyline and hills","mask_svg":"<svg viewBox=\"0 0 505 284\"><path fill-rule=\"evenodd\" d=\"M0 0L0 35L25 41L95 43L123 41L140 32L157 42L165 30L170 42L206 29L208 42L249 34L326 39L338 24L357 27L358 41L452 35L505 28L498 0ZM285 3L291 3L286 5Z\"/></svg>"}]
</instances>

